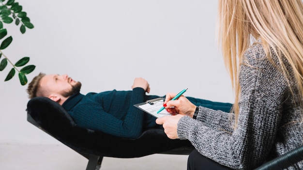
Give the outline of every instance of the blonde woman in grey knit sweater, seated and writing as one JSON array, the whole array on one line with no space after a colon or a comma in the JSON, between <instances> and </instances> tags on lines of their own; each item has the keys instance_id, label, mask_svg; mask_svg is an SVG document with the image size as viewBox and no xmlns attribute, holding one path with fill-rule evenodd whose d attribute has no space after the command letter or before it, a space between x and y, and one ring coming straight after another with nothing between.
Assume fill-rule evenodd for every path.
<instances>
[{"instance_id":1,"label":"blonde woman in grey knit sweater, seated and writing","mask_svg":"<svg viewBox=\"0 0 303 170\"><path fill-rule=\"evenodd\" d=\"M169 138L195 146L188 170L250 170L303 144L303 3L219 0L218 5L233 112L196 107L184 96L173 101L176 94L168 93L164 106L179 114L156 123ZM302 161L289 169L302 170Z\"/></svg>"}]
</instances>

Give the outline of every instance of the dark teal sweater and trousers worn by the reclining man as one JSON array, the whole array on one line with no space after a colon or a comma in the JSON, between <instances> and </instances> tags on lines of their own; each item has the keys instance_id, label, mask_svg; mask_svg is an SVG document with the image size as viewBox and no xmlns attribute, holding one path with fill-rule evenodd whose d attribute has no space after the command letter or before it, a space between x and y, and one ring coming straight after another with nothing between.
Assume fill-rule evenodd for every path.
<instances>
[{"instance_id":1,"label":"dark teal sweater and trousers worn by the reclining man","mask_svg":"<svg viewBox=\"0 0 303 170\"><path fill-rule=\"evenodd\" d=\"M146 96L142 88L132 91L106 91L102 93L76 93L68 98L63 108L72 116L77 126L98 130L114 136L137 138L146 128L159 128L155 117L136 108L134 104L159 96ZM229 103L188 98L197 106L228 111ZM162 128L162 127L161 127Z\"/></svg>"}]
</instances>

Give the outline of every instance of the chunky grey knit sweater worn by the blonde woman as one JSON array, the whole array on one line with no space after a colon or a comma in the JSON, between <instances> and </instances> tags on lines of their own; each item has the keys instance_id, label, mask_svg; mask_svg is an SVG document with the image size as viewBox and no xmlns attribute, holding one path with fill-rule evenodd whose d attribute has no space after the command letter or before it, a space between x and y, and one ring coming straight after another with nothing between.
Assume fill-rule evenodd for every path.
<instances>
[{"instance_id":1,"label":"chunky grey knit sweater worn by the blonde woman","mask_svg":"<svg viewBox=\"0 0 303 170\"><path fill-rule=\"evenodd\" d=\"M237 128L232 128L232 113L200 106L197 120L183 116L177 130L179 138L188 139L203 156L250 170L303 144L303 107L294 78L288 85L261 44L250 47L243 58ZM290 169L303 169L303 163Z\"/></svg>"}]
</instances>

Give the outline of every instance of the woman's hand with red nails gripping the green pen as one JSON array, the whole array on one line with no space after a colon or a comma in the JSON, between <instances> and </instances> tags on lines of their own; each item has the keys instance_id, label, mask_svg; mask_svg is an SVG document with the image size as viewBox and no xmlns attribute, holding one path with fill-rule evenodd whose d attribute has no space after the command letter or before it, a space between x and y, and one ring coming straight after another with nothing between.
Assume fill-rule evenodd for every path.
<instances>
[{"instance_id":1,"label":"woman's hand with red nails gripping the green pen","mask_svg":"<svg viewBox=\"0 0 303 170\"><path fill-rule=\"evenodd\" d=\"M166 108L167 112L173 115L179 113L182 115L188 115L190 117L193 117L197 106L190 102L183 95L176 100L171 100L176 95L177 93L167 93L163 107Z\"/></svg>"}]
</instances>

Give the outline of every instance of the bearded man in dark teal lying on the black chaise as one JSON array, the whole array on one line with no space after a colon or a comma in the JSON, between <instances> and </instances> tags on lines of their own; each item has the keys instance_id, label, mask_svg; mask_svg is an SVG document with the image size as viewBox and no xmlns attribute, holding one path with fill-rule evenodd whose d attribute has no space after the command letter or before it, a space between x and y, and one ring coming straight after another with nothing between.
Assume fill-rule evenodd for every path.
<instances>
[{"instance_id":1,"label":"bearded man in dark teal lying on the black chaise","mask_svg":"<svg viewBox=\"0 0 303 170\"><path fill-rule=\"evenodd\" d=\"M30 82L29 98L47 97L58 102L82 128L102 131L123 137L137 138L147 128L162 128L155 123L155 117L136 108L134 104L159 98L149 96L149 83L143 78L135 78L131 91L105 91L101 93L80 93L81 83L67 74L39 73ZM197 106L229 112L232 104L212 102L187 97Z\"/></svg>"}]
</instances>

